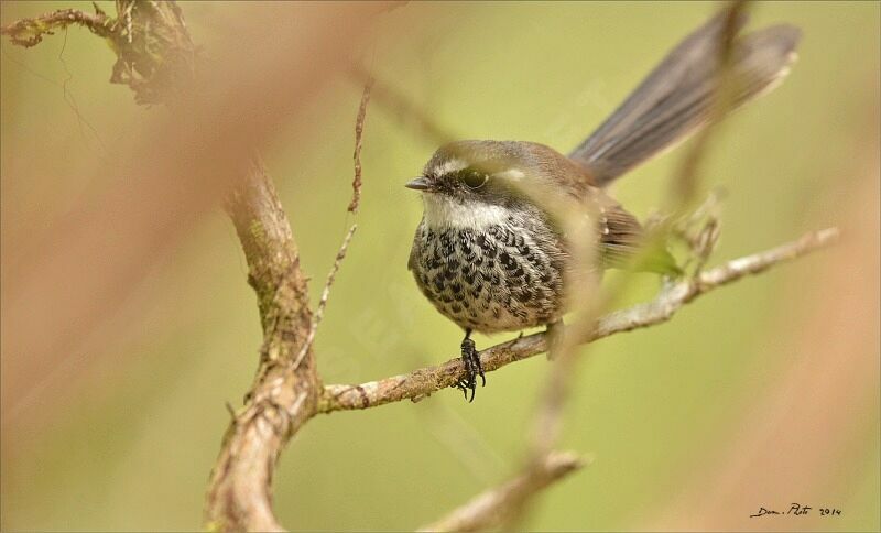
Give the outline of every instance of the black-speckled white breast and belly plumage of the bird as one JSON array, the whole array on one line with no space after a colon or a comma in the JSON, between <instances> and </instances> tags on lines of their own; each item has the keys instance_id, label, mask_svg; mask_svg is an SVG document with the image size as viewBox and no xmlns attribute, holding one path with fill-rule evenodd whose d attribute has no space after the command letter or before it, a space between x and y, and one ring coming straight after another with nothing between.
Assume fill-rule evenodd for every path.
<instances>
[{"instance_id":1,"label":"black-speckled white breast and belly plumage of the bird","mask_svg":"<svg viewBox=\"0 0 881 533\"><path fill-rule=\"evenodd\" d=\"M513 211L486 228L420 224L410 268L437 311L465 329L510 331L557 320L565 252L543 220Z\"/></svg>"}]
</instances>

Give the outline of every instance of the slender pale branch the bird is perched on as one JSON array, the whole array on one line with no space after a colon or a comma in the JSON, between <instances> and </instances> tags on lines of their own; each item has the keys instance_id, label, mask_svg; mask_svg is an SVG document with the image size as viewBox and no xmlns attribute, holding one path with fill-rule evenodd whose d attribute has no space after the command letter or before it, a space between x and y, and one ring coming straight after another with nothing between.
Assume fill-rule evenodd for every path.
<instances>
[{"instance_id":1,"label":"slender pale branch the bird is perched on","mask_svg":"<svg viewBox=\"0 0 881 533\"><path fill-rule=\"evenodd\" d=\"M610 313L599 320L580 342L590 342L618 333L666 322L697 296L751 274L763 272L779 263L825 248L838 239L838 230L828 228L805 235L796 241L770 250L731 260L720 266L682 280L663 290L652 302ZM547 334L537 333L493 346L480 352L483 370L497 370L522 359L547 351ZM407 374L393 376L361 384L331 384L324 388L318 410L333 411L376 407L411 399L420 400L435 391L453 385L463 378L459 358L437 367L425 367Z\"/></svg>"}]
</instances>

